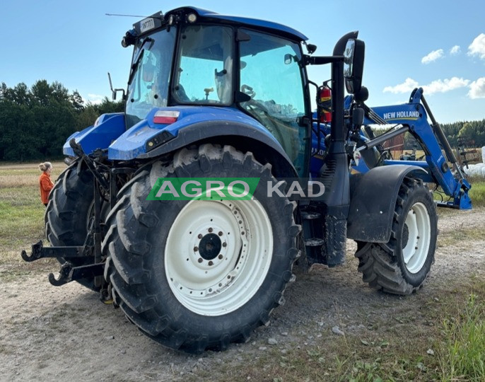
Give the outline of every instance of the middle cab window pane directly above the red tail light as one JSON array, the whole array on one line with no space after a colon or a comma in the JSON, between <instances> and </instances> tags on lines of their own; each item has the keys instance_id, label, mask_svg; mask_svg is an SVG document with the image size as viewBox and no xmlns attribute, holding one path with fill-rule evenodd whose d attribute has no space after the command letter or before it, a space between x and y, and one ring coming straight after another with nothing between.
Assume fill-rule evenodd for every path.
<instances>
[{"instance_id":1,"label":"middle cab window pane directly above the red tail light","mask_svg":"<svg viewBox=\"0 0 485 382\"><path fill-rule=\"evenodd\" d=\"M230 105L233 30L220 25L188 25L180 33L173 98L177 103Z\"/></svg>"}]
</instances>

